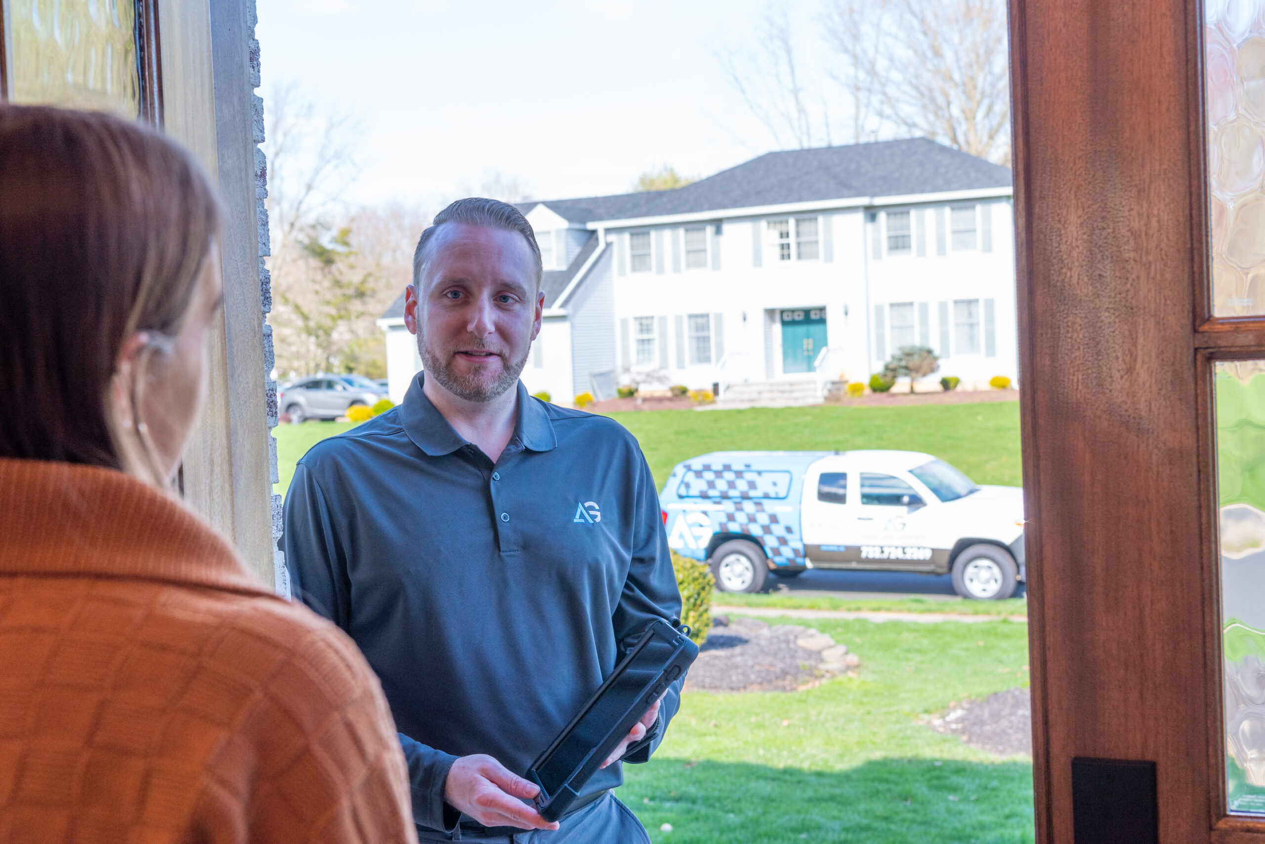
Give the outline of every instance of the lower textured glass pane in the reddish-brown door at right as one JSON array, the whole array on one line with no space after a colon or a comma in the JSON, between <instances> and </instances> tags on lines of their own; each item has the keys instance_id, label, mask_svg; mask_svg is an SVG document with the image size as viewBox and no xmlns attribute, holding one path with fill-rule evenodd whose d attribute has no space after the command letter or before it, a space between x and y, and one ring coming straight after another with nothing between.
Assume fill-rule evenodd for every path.
<instances>
[{"instance_id":1,"label":"lower textured glass pane in the reddish-brown door at right","mask_svg":"<svg viewBox=\"0 0 1265 844\"><path fill-rule=\"evenodd\" d=\"M1216 374L1227 807L1265 815L1265 361Z\"/></svg>"}]
</instances>

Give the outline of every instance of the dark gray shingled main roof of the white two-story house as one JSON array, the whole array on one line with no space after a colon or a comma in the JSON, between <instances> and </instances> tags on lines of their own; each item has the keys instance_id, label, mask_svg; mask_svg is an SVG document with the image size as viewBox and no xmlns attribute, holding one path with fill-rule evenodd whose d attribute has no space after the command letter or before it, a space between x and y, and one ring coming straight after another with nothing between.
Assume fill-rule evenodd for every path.
<instances>
[{"instance_id":1,"label":"dark gray shingled main roof of the white two-story house","mask_svg":"<svg viewBox=\"0 0 1265 844\"><path fill-rule=\"evenodd\" d=\"M787 202L1009 187L1011 171L927 138L767 153L702 181L650 193L524 202L571 222L697 214Z\"/></svg>"}]
</instances>

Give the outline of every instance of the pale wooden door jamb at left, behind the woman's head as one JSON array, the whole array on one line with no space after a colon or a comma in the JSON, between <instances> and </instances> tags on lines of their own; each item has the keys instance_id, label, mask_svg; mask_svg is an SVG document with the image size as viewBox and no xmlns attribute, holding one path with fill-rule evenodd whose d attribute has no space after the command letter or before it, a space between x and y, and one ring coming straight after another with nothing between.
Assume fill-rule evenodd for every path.
<instances>
[{"instance_id":1,"label":"pale wooden door jamb at left, behind the woman's head","mask_svg":"<svg viewBox=\"0 0 1265 844\"><path fill-rule=\"evenodd\" d=\"M139 119L166 131L219 187L224 307L211 331L207 401L181 473L186 502L275 585L276 384L263 326L264 171L254 0L135 0ZM9 0L0 0L0 102L13 80ZM161 21L161 25L159 25Z\"/></svg>"}]
</instances>

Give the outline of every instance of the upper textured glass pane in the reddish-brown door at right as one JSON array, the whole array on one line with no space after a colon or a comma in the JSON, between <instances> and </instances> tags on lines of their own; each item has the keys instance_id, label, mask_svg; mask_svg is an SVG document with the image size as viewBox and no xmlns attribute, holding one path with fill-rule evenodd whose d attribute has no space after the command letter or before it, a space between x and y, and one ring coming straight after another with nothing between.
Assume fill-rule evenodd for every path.
<instances>
[{"instance_id":1,"label":"upper textured glass pane in the reddish-brown door at right","mask_svg":"<svg viewBox=\"0 0 1265 844\"><path fill-rule=\"evenodd\" d=\"M1265 3L1206 11L1212 312L1265 313Z\"/></svg>"}]
</instances>

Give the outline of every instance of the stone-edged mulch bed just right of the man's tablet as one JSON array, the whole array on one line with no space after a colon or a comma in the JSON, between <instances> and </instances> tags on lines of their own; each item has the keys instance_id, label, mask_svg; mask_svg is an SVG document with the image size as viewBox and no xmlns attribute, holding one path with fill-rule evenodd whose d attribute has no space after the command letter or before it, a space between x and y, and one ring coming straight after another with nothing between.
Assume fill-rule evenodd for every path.
<instances>
[{"instance_id":1,"label":"stone-edged mulch bed just right of the man's tablet","mask_svg":"<svg viewBox=\"0 0 1265 844\"><path fill-rule=\"evenodd\" d=\"M798 624L769 627L724 615L713 624L686 676L687 690L797 691L848 673L859 662L829 636Z\"/></svg>"}]
</instances>

